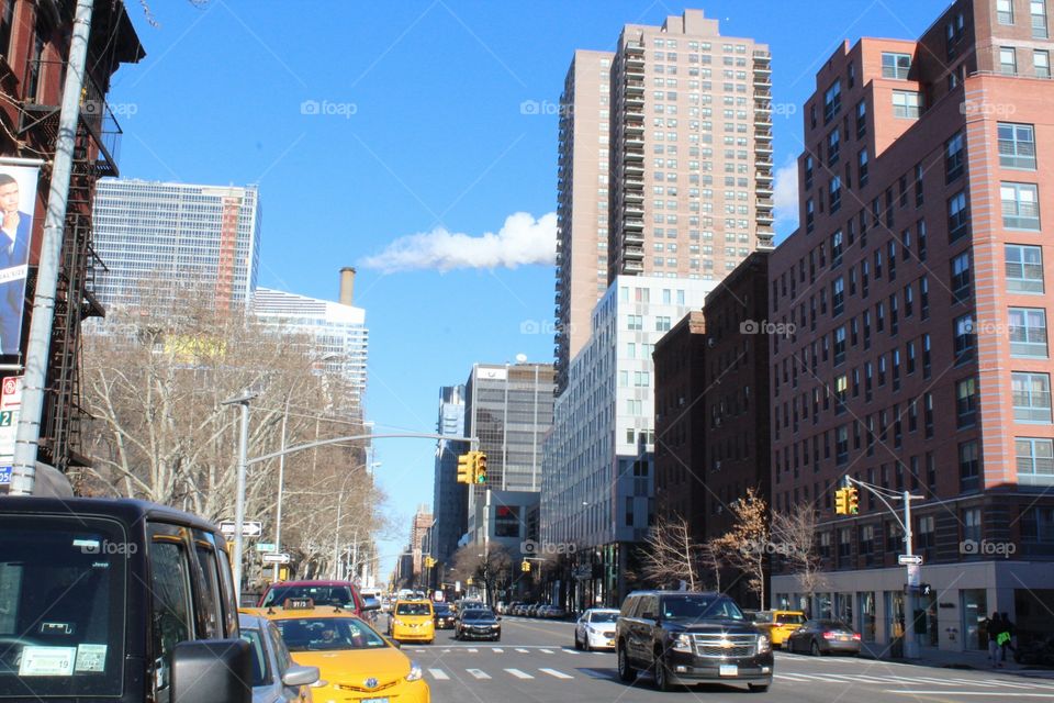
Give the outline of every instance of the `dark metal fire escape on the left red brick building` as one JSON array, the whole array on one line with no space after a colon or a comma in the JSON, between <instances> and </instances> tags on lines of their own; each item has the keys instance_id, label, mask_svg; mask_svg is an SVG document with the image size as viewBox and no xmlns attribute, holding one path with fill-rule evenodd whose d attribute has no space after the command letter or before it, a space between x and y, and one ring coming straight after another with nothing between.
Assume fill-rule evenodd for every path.
<instances>
[{"instance_id":1,"label":"dark metal fire escape on the left red brick building","mask_svg":"<svg viewBox=\"0 0 1054 703\"><path fill-rule=\"evenodd\" d=\"M40 99L43 91L36 88L43 83L44 77L54 79L58 76L61 85L66 64L31 62L26 74L23 85L27 87L27 98L21 105L19 136L38 145L41 150L54 154L60 105L44 104L53 100ZM92 198L99 178L117 176L120 140L121 126L106 104L105 93L89 70L80 99L41 425L40 460L61 471L87 466L80 453L81 421L86 415L80 404L80 323L88 317L105 315L92 292L97 268L102 264L92 248ZM41 179L51 179L48 165L41 168ZM31 267L25 292L27 312L35 290L36 267Z\"/></svg>"}]
</instances>

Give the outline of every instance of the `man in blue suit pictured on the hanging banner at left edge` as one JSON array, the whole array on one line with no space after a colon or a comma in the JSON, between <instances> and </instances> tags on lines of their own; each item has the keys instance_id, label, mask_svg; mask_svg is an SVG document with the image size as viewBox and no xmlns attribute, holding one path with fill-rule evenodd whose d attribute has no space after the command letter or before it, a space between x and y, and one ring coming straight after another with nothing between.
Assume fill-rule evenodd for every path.
<instances>
[{"instance_id":1,"label":"man in blue suit pictured on the hanging banner at left edge","mask_svg":"<svg viewBox=\"0 0 1054 703\"><path fill-rule=\"evenodd\" d=\"M33 215L19 211L19 181L0 172L0 354L18 354Z\"/></svg>"}]
</instances>

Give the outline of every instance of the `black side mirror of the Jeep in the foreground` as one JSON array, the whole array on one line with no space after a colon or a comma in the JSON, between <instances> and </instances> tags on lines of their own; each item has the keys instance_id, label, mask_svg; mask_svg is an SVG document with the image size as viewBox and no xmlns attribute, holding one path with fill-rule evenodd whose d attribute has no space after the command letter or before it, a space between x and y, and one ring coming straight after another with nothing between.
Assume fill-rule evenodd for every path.
<instances>
[{"instance_id":1,"label":"black side mirror of the Jeep in the foreground","mask_svg":"<svg viewBox=\"0 0 1054 703\"><path fill-rule=\"evenodd\" d=\"M253 703L249 643L181 641L172 648L172 703Z\"/></svg>"}]
</instances>

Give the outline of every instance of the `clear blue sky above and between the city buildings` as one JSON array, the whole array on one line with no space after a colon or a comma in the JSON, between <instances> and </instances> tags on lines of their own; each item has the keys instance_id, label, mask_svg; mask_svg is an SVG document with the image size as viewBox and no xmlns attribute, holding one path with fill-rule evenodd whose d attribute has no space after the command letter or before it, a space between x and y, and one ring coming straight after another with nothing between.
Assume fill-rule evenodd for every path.
<instances>
[{"instance_id":1,"label":"clear blue sky above and between the city buildings","mask_svg":"<svg viewBox=\"0 0 1054 703\"><path fill-rule=\"evenodd\" d=\"M126 4L147 56L119 71L110 94L124 130L122 176L258 183L261 286L336 300L338 269L357 266L371 344L366 412L378 432L434 432L439 387L464 382L475 361L552 360L548 325L522 332L553 311L551 265L531 263L548 259L537 243L556 208L548 108L575 48L610 49L625 23L661 24L684 9L661 0L152 0L155 27L136 0ZM775 163L787 167L800 150L801 102L837 46L862 35L915 38L948 4L688 7L719 19L724 35L770 44L773 99L797 107L774 118ZM514 213L530 216L511 222L505 237L475 239ZM781 235L795 216L781 217ZM437 228L471 239L413 241L435 245L404 261L425 268L369 266L390 264L375 257L401 237ZM440 270L459 264L471 266ZM377 445L379 482L404 526L381 545L385 576L415 506L431 502L433 456L426 440Z\"/></svg>"}]
</instances>

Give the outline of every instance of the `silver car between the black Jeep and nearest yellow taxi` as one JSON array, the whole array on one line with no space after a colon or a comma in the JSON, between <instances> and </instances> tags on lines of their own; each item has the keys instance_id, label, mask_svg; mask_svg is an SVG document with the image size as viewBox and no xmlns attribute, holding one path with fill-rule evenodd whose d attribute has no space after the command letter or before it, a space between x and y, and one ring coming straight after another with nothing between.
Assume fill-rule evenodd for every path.
<instances>
[{"instance_id":1,"label":"silver car between the black Jeep and nearest yellow taxi","mask_svg":"<svg viewBox=\"0 0 1054 703\"><path fill-rule=\"evenodd\" d=\"M253 647L253 703L312 703L318 667L293 662L278 628L259 615L238 615L242 639Z\"/></svg>"}]
</instances>

